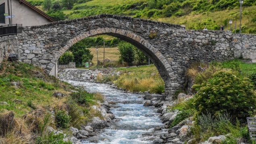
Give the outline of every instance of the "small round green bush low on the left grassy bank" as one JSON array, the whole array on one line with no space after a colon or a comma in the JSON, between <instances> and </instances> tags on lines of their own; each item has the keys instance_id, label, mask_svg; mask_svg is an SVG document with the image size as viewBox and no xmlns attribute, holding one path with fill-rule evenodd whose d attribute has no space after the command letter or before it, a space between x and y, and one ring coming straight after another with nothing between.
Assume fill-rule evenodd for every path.
<instances>
[{"instance_id":1,"label":"small round green bush low on the left grassy bank","mask_svg":"<svg viewBox=\"0 0 256 144\"><path fill-rule=\"evenodd\" d=\"M71 121L71 116L67 115L65 111L58 111L55 115L56 126L58 128L67 128Z\"/></svg>"}]
</instances>

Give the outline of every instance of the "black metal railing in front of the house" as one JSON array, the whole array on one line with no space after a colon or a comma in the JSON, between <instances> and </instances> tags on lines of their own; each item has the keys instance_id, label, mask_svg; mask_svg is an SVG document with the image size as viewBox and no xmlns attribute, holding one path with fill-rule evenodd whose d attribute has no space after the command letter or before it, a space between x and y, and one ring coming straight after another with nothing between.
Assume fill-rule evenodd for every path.
<instances>
[{"instance_id":1,"label":"black metal railing in front of the house","mask_svg":"<svg viewBox=\"0 0 256 144\"><path fill-rule=\"evenodd\" d=\"M0 25L0 37L17 35L22 32L22 24Z\"/></svg>"}]
</instances>

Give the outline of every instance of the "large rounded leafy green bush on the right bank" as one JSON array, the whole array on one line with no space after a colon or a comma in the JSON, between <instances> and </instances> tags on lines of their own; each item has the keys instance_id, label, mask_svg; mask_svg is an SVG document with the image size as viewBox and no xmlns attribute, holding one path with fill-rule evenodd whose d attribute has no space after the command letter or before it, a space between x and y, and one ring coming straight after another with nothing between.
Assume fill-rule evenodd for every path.
<instances>
[{"instance_id":1,"label":"large rounded leafy green bush on the right bank","mask_svg":"<svg viewBox=\"0 0 256 144\"><path fill-rule=\"evenodd\" d=\"M256 95L247 78L238 78L230 71L213 74L207 82L195 84L194 107L199 113L230 113L232 120L246 119L255 109Z\"/></svg>"}]
</instances>

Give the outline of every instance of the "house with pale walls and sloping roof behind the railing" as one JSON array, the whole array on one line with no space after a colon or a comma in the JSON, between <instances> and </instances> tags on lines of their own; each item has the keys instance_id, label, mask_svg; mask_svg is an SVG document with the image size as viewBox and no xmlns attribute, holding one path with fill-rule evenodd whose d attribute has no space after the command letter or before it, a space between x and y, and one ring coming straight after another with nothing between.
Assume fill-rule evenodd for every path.
<instances>
[{"instance_id":1,"label":"house with pale walls and sloping roof behind the railing","mask_svg":"<svg viewBox=\"0 0 256 144\"><path fill-rule=\"evenodd\" d=\"M14 16L11 19L7 15ZM42 10L26 0L0 0L0 25L22 24L23 26L44 25L54 22Z\"/></svg>"}]
</instances>

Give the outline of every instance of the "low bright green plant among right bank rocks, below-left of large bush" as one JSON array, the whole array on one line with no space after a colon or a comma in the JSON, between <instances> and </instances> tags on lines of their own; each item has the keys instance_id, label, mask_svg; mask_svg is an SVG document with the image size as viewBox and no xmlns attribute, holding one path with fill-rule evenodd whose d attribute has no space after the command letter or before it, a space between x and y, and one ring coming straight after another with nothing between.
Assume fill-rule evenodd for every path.
<instances>
[{"instance_id":1,"label":"low bright green plant among right bank rocks, below-left of large bush","mask_svg":"<svg viewBox=\"0 0 256 144\"><path fill-rule=\"evenodd\" d=\"M186 109L179 112L175 117L175 119L173 120L173 122L171 123L170 128L173 128L175 125L179 124L184 119L191 117L193 114L194 114L194 109Z\"/></svg>"}]
</instances>

